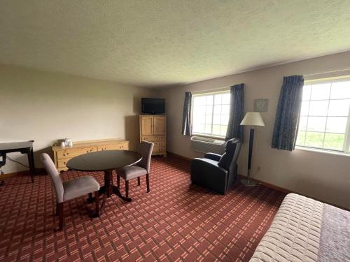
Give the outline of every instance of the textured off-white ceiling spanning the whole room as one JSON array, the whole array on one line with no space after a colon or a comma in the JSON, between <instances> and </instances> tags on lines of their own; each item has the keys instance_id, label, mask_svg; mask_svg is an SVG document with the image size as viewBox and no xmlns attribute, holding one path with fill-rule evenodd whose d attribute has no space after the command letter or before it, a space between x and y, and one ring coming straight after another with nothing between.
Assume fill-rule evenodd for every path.
<instances>
[{"instance_id":1,"label":"textured off-white ceiling spanning the whole room","mask_svg":"<svg viewBox=\"0 0 350 262\"><path fill-rule=\"evenodd\" d=\"M0 63L145 87L350 49L348 0L1 0Z\"/></svg>"}]
</instances>

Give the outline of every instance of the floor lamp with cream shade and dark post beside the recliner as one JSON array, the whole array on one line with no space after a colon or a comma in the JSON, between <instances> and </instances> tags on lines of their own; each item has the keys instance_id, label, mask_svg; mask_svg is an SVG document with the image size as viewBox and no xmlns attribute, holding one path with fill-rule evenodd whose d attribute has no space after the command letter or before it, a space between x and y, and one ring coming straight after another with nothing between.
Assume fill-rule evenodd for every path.
<instances>
[{"instance_id":1,"label":"floor lamp with cream shade and dark post beside the recliner","mask_svg":"<svg viewBox=\"0 0 350 262\"><path fill-rule=\"evenodd\" d=\"M246 112L241 126L251 126L249 132L249 154L248 154L248 175L247 179L241 180L245 186L255 186L255 181L251 180L251 156L253 154L254 143L254 126L265 126L264 119L262 119L260 112Z\"/></svg>"}]
</instances>

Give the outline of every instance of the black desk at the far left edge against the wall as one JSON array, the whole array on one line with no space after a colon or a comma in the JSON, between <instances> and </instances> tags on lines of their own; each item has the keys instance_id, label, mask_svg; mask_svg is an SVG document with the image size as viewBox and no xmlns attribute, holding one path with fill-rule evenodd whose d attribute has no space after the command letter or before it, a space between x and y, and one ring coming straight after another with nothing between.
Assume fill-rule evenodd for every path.
<instances>
[{"instance_id":1,"label":"black desk at the far left edge against the wall","mask_svg":"<svg viewBox=\"0 0 350 262\"><path fill-rule=\"evenodd\" d=\"M21 152L22 154L27 154L28 163L30 169L31 182L34 182L34 153L33 153L33 143L34 140L25 142L15 142L15 143L0 143L0 168L6 164L6 154L13 152Z\"/></svg>"}]
</instances>

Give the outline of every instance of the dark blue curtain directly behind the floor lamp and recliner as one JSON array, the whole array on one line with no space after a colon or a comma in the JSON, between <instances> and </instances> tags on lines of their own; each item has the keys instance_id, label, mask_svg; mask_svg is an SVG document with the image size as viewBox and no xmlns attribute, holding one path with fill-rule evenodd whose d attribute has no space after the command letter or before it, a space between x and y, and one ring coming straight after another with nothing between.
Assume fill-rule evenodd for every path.
<instances>
[{"instance_id":1,"label":"dark blue curtain directly behind the floor lamp and recliner","mask_svg":"<svg viewBox=\"0 0 350 262\"><path fill-rule=\"evenodd\" d=\"M230 93L230 117L225 140L240 138L243 141L241 121L244 117L244 84L233 85Z\"/></svg>"}]
</instances>

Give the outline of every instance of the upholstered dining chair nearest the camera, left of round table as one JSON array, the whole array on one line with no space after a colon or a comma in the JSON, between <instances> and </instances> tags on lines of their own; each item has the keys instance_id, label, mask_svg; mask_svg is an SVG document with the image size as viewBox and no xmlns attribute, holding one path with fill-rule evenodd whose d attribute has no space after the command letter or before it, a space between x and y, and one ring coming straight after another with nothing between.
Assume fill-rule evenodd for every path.
<instances>
[{"instance_id":1,"label":"upholstered dining chair nearest the camera, left of round table","mask_svg":"<svg viewBox=\"0 0 350 262\"><path fill-rule=\"evenodd\" d=\"M56 214L59 216L59 230L63 228L64 224L63 203L78 196L85 194L91 196L92 192L94 192L95 215L96 217L99 216L99 183L94 180L94 177L89 175L62 182L59 172L50 156L45 153L41 154L41 161L43 161L46 172L50 175L53 187L55 187Z\"/></svg>"}]
</instances>

